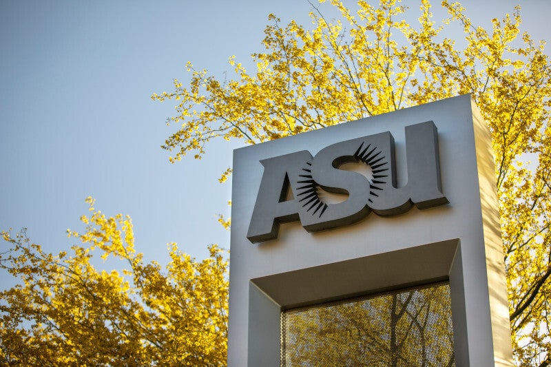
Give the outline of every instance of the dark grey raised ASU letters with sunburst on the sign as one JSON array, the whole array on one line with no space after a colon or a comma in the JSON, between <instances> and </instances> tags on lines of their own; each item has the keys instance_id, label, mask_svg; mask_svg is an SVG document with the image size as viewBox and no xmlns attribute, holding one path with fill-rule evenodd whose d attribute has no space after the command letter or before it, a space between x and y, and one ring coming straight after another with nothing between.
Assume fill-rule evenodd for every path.
<instances>
[{"instance_id":1,"label":"dark grey raised ASU letters with sunburst on the sign","mask_svg":"<svg viewBox=\"0 0 551 367\"><path fill-rule=\"evenodd\" d=\"M440 184L437 127L433 121L405 127L407 184L396 187L395 147L390 132L331 144L312 156L302 150L261 160L264 174L249 224L251 242L278 237L280 223L300 220L306 231L351 224L371 211L395 216L448 203ZM364 176L342 169L362 162ZM291 189L293 198L286 200ZM344 193L343 202L325 202L320 191Z\"/></svg>"}]
</instances>

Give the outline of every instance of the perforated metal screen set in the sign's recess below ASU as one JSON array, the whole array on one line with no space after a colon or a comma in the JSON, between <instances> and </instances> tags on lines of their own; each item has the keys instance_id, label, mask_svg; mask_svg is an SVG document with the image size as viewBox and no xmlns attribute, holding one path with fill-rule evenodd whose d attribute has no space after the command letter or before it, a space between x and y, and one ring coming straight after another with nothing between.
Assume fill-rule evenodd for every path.
<instances>
[{"instance_id":1,"label":"perforated metal screen set in the sign's recess below ASU","mask_svg":"<svg viewBox=\"0 0 551 367\"><path fill-rule=\"evenodd\" d=\"M281 335L284 367L455 366L448 282L292 308Z\"/></svg>"}]
</instances>

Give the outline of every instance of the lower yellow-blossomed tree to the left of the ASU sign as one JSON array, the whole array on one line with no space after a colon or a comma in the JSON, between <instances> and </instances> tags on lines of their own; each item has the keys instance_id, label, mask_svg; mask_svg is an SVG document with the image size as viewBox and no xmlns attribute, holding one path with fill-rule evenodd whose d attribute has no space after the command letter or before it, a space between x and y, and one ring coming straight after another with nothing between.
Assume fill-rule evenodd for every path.
<instances>
[{"instance_id":1,"label":"lower yellow-blossomed tree to the left of the ASU sign","mask_svg":"<svg viewBox=\"0 0 551 367\"><path fill-rule=\"evenodd\" d=\"M225 366L227 260L216 245L197 262L169 244L171 262L143 262L129 217L82 216L81 245L45 253L3 231L0 268L21 284L0 293L1 366ZM98 271L95 254L121 260Z\"/></svg>"}]
</instances>

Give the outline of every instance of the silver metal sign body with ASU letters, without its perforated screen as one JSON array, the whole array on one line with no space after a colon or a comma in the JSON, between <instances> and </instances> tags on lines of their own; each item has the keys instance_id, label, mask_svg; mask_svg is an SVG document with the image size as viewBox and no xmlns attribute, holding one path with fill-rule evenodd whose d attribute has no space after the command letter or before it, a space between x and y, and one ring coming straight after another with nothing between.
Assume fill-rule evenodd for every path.
<instances>
[{"instance_id":1,"label":"silver metal sign body with ASU letters, without its perforated screen","mask_svg":"<svg viewBox=\"0 0 551 367\"><path fill-rule=\"evenodd\" d=\"M439 280L456 366L512 366L476 113L459 96L234 151L228 366L280 366L286 308Z\"/></svg>"}]
</instances>

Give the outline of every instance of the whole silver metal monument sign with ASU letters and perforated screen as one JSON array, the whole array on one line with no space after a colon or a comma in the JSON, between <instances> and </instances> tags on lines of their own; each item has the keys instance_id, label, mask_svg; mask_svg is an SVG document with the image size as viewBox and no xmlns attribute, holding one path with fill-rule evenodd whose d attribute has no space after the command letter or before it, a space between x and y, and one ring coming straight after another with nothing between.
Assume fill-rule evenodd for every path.
<instances>
[{"instance_id":1,"label":"whole silver metal monument sign with ASU letters and perforated screen","mask_svg":"<svg viewBox=\"0 0 551 367\"><path fill-rule=\"evenodd\" d=\"M236 149L228 366L512 366L495 187L468 95Z\"/></svg>"}]
</instances>

